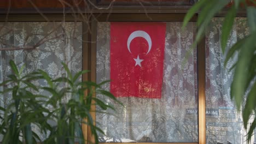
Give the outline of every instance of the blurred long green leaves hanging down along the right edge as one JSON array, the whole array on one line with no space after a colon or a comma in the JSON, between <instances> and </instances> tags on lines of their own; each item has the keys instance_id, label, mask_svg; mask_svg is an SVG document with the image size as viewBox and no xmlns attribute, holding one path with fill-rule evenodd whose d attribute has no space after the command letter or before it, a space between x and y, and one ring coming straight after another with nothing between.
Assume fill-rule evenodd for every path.
<instances>
[{"instance_id":1,"label":"blurred long green leaves hanging down along the right edge","mask_svg":"<svg viewBox=\"0 0 256 144\"><path fill-rule=\"evenodd\" d=\"M232 26L239 10L246 10L250 29L247 37L237 41L227 53L224 53L226 55L224 65L226 66L229 59L234 56L234 53L238 52L237 62L231 68L234 69L234 77L231 84L231 99L235 101L237 110L242 109L244 127L245 129L249 129L249 141L253 135L253 130L256 128L256 117L254 117L253 123L248 125L249 118L255 113L256 109L256 1L200 0L188 11L184 18L183 27L188 24L191 17L198 13L196 22L198 29L195 45L205 35L205 29L212 18L226 8L227 5L230 7L228 8L228 12L225 13L220 40L223 53L225 52Z\"/></svg>"}]
</instances>

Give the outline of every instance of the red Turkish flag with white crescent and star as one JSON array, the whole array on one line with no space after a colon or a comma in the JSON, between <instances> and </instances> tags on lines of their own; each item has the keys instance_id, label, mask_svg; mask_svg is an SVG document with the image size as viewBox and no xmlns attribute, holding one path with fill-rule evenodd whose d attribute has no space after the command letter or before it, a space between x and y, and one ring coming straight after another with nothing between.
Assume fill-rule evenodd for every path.
<instances>
[{"instance_id":1,"label":"red Turkish flag with white crescent and star","mask_svg":"<svg viewBox=\"0 0 256 144\"><path fill-rule=\"evenodd\" d=\"M111 22L110 92L161 98L165 22Z\"/></svg>"}]
</instances>

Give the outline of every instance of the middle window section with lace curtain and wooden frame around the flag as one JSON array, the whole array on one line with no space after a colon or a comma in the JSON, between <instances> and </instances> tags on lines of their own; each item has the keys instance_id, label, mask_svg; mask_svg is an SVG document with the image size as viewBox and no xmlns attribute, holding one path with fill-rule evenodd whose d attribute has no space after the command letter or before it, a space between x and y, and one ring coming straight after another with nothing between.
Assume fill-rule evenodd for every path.
<instances>
[{"instance_id":1,"label":"middle window section with lace curtain and wooden frame around the flag","mask_svg":"<svg viewBox=\"0 0 256 144\"><path fill-rule=\"evenodd\" d=\"M96 44L92 44L92 54L91 54L91 62L92 62L92 72L96 73L92 75L93 80L101 81L105 79L109 79L110 71L109 71L109 32L110 32L110 23L106 21L127 21L127 22L136 22L136 21L150 21L148 17L144 17L144 15L133 15L127 14L122 15L110 15L110 17L104 17L104 15L98 15L97 22L95 21L92 24L92 29L95 29L95 33L92 34L91 40L97 41ZM196 50L190 53L189 55L189 70L182 75L177 73L178 70L182 68L178 68L178 65L182 65L186 55L188 53L185 52L193 41L193 36L196 31L196 27L193 22L187 28L185 33L181 31L181 19L183 19L184 15L149 15L152 18L152 21L162 21L166 22L168 25L166 29L166 45L165 50L169 53L165 53L165 73L166 77L164 77L164 85L168 88L163 88L162 97L166 100L169 100L170 103L166 103L165 100L149 100L149 99L136 99L136 98L119 98L122 102L125 102L125 107L123 110L118 109L118 113L116 115L122 116L122 118L118 119L114 116L104 115L101 113L97 113L96 111L96 124L100 125L100 127L108 134L104 137L104 140L101 139L102 142L107 141L115 141L115 142L127 142L127 141L137 141L137 142L189 142L189 143L197 143L198 140L198 122L197 122L197 64L196 64ZM133 17L133 18L131 18ZM178 18L177 18L178 17ZM107 19L107 20L106 20ZM180 43L179 43L180 41ZM171 46L172 45L172 46ZM182 45L182 46L179 46ZM171 49L171 47L173 49ZM182 49L181 49L182 47ZM179 49L180 48L180 49ZM180 55L175 54L175 52L181 52ZM171 60L171 58L173 58ZM168 65L171 65L171 61L176 61L174 59L178 59L179 62L176 64L173 63L173 69L168 69ZM185 67L188 68L188 65ZM186 81L187 84L180 83L181 88L178 91L178 86L175 88L172 87L173 83L169 80L172 77L168 77L167 75L171 75L173 71L176 71L177 79L182 79L182 81ZM172 74L173 77L175 74ZM185 75L189 75L189 78L185 78ZM184 78L183 78L184 76ZM170 82L170 83L168 83ZM179 83L179 82L177 82ZM177 84L176 83L176 84ZM164 86L164 87L165 87ZM109 86L106 85L108 89ZM170 97L170 91L172 89L177 89L176 94L173 94L173 98ZM187 88L187 90L185 89ZM184 90L183 90L184 89ZM179 97L178 93L187 94L186 98ZM176 97L175 97L175 96ZM100 95L97 95L100 97ZM139 101L138 101L139 100ZM107 100L106 100L107 101ZM110 102L110 101L109 101ZM154 103L154 106L150 107L151 104ZM179 103L179 104L178 104ZM144 105L143 105L144 104ZM186 104L186 105L183 105ZM139 107L139 110L136 110ZM147 107L148 106L148 107ZM180 107L179 107L180 106ZM175 110L174 110L175 109ZM182 109L182 118L178 117L180 114L179 109ZM97 110L97 109L96 109ZM146 112L144 112L146 111ZM172 111L172 112L171 112ZM186 112L187 111L187 112ZM111 112L111 111L109 111ZM154 115L155 114L155 115ZM171 119L171 117L176 117L176 119ZM129 119L130 118L130 119ZM140 118L140 119L139 119ZM181 122L178 122L179 120ZM135 122L132 122L135 120ZM177 123L175 123L176 121ZM154 124L154 122L156 122ZM140 126L137 126L140 125ZM132 130L132 127L135 130ZM183 128L182 128L183 127ZM112 129L113 128L113 129ZM177 128L177 129L176 129ZM125 129L125 131L124 131ZM176 133L176 130L178 131ZM155 135L154 135L155 133ZM181 134L182 133L182 134ZM189 134L190 133L190 134ZM189 134L189 135L187 135ZM162 135L162 136L161 136ZM176 135L176 137L172 136ZM178 137L177 135L182 135ZM132 137L133 136L133 137ZM126 139L126 140L124 140ZM124 140L124 141L123 141Z\"/></svg>"}]
</instances>

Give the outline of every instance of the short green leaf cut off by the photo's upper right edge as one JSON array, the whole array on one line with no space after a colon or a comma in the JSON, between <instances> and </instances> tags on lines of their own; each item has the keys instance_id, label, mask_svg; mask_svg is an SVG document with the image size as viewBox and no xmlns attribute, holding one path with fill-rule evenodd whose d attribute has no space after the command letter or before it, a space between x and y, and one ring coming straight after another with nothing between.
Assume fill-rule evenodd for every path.
<instances>
[{"instance_id":1,"label":"short green leaf cut off by the photo's upper right edge","mask_svg":"<svg viewBox=\"0 0 256 144\"><path fill-rule=\"evenodd\" d=\"M250 31L255 32L256 31L256 8L255 7L247 8L247 20L248 20Z\"/></svg>"}]
</instances>

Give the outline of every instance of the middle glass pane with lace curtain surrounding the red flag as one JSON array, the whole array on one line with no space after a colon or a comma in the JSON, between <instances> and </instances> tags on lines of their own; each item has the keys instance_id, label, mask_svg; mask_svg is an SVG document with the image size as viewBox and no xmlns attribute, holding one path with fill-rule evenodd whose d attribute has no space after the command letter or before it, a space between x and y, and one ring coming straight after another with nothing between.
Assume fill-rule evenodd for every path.
<instances>
[{"instance_id":1,"label":"middle glass pane with lace curtain surrounding the red flag","mask_svg":"<svg viewBox=\"0 0 256 144\"><path fill-rule=\"evenodd\" d=\"M97 24L97 82L110 79L110 25L110 22ZM118 97L124 104L122 107L97 95L109 105L113 104L117 110L96 112L96 125L105 133L100 134L100 142L198 141L196 50L190 49L196 27L194 22L190 22L182 31L181 26L182 22L166 22L160 99L136 98L132 95ZM120 37L123 34L120 31ZM127 44L123 45L127 49ZM109 91L110 83L103 87Z\"/></svg>"}]
</instances>

